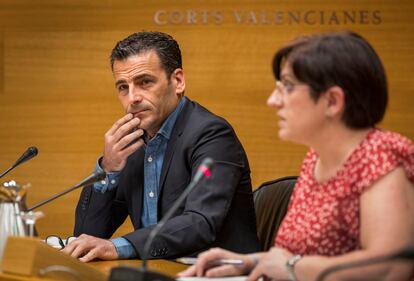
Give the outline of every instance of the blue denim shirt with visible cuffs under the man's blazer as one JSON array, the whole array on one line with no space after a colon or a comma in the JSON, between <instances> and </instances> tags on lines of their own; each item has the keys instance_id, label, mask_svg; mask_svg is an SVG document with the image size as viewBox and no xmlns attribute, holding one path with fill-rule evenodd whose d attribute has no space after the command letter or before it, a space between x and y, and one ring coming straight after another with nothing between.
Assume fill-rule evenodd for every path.
<instances>
[{"instance_id":1,"label":"blue denim shirt with visible cuffs under the man's blazer","mask_svg":"<svg viewBox=\"0 0 414 281\"><path fill-rule=\"evenodd\" d=\"M141 214L143 227L154 225L158 222L157 204L162 164L175 121L186 100L186 97L180 100L177 108L168 116L157 134L144 145L144 200ZM99 162L99 160L96 162L95 170L102 169ZM113 190L118 185L119 175L120 172L107 173L104 180L94 183L95 191L105 193L106 191ZM115 245L119 258L133 258L137 256L134 247L125 238L114 238L111 241Z\"/></svg>"}]
</instances>

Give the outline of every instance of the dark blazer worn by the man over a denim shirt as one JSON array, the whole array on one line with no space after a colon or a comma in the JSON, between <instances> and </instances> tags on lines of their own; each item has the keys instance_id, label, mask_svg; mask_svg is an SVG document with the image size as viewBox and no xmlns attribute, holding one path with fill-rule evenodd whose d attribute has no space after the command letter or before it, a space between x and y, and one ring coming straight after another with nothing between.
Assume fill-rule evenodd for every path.
<instances>
[{"instance_id":1,"label":"dark blazer worn by the man over a denim shirt","mask_svg":"<svg viewBox=\"0 0 414 281\"><path fill-rule=\"evenodd\" d=\"M128 158L118 187L106 193L83 189L76 208L75 235L110 238L129 215L135 231L124 235L139 257L153 226L142 228L144 149ZM210 247L248 253L260 249L256 234L250 168L233 128L224 119L187 100L177 118L160 177L158 220L190 183L205 157L215 161L212 176L196 186L155 237L149 255L174 258Z\"/></svg>"}]
</instances>

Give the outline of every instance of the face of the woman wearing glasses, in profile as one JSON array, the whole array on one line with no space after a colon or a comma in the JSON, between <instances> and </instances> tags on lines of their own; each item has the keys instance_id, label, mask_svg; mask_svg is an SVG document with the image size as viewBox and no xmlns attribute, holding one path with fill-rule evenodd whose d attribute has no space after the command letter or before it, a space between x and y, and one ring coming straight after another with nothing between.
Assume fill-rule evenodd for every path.
<instances>
[{"instance_id":1,"label":"face of the woman wearing glasses, in profile","mask_svg":"<svg viewBox=\"0 0 414 281\"><path fill-rule=\"evenodd\" d=\"M310 95L310 87L299 81L289 62L282 68L280 81L269 96L267 105L277 109L279 137L309 145L325 120L324 103Z\"/></svg>"}]
</instances>

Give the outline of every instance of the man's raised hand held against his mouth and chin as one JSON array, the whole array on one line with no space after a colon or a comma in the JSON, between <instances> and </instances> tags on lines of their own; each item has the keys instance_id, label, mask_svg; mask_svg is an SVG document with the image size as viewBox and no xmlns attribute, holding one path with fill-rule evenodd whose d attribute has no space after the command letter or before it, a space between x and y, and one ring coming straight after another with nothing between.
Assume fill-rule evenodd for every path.
<instances>
[{"instance_id":1,"label":"man's raised hand held against his mouth and chin","mask_svg":"<svg viewBox=\"0 0 414 281\"><path fill-rule=\"evenodd\" d=\"M105 172L121 171L125 167L128 156L144 144L144 140L140 139L144 131L137 129L140 122L138 118L133 118L133 115L128 113L106 132L104 156L101 162Z\"/></svg>"}]
</instances>

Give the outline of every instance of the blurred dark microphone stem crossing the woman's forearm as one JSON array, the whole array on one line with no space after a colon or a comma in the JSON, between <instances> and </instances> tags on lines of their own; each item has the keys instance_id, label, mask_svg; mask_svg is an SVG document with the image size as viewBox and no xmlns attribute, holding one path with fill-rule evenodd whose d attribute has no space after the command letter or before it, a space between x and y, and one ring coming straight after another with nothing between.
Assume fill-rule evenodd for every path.
<instances>
[{"instance_id":1,"label":"blurred dark microphone stem crossing the woman's forearm","mask_svg":"<svg viewBox=\"0 0 414 281\"><path fill-rule=\"evenodd\" d=\"M354 268L354 267L361 267L361 266L366 266L366 265L371 265L371 264L376 264L376 263L381 263L381 262L386 262L386 261L391 261L391 260L414 260L414 245L402 248L399 251L396 251L392 254L388 254L385 256L368 258L364 260L353 261L349 263L331 266L325 269L324 271L322 271L319 274L318 278L316 278L316 281L323 281L331 273L334 273L340 270Z\"/></svg>"}]
</instances>

